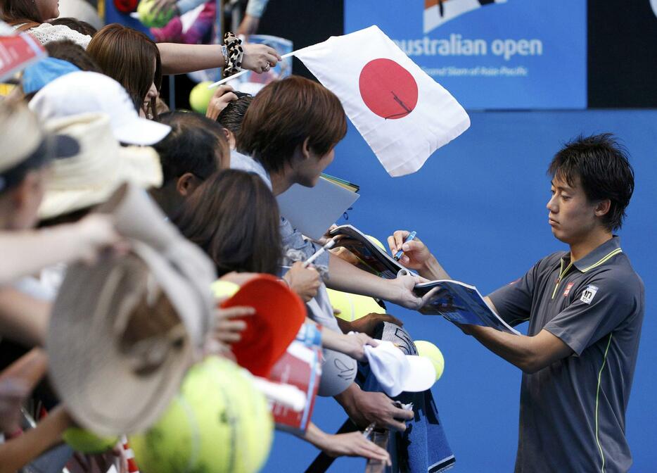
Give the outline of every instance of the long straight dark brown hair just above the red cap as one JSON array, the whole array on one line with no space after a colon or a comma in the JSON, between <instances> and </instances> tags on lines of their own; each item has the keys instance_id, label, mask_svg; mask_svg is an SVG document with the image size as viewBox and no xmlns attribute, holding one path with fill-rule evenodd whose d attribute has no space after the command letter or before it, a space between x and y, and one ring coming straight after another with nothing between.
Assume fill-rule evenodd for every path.
<instances>
[{"instance_id":1,"label":"long straight dark brown hair just above the red cap","mask_svg":"<svg viewBox=\"0 0 657 473\"><path fill-rule=\"evenodd\" d=\"M276 275L282 254L279 220L276 198L260 176L234 169L207 179L174 219L214 260L219 275Z\"/></svg>"}]
</instances>

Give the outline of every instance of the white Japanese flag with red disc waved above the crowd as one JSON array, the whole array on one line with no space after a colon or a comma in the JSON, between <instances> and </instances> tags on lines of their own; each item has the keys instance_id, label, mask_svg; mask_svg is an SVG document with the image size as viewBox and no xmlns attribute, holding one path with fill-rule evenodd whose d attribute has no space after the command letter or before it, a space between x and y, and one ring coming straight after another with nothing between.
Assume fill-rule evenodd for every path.
<instances>
[{"instance_id":1,"label":"white Japanese flag with red disc waved above the crowd","mask_svg":"<svg viewBox=\"0 0 657 473\"><path fill-rule=\"evenodd\" d=\"M470 127L463 107L371 26L294 53L342 102L388 174L419 170Z\"/></svg>"}]
</instances>

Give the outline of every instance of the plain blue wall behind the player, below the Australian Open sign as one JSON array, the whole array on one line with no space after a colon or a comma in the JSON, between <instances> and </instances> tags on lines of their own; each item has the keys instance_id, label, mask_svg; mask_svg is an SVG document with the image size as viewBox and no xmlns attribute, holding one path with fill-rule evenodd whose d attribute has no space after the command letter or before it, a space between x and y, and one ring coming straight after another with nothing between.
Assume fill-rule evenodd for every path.
<instances>
[{"instance_id":1,"label":"plain blue wall behind the player, below the Australian Open sign","mask_svg":"<svg viewBox=\"0 0 657 473\"><path fill-rule=\"evenodd\" d=\"M632 156L636 190L619 232L623 250L646 285L646 317L627 411L634 472L657 465L657 362L654 314L657 289L657 111L471 113L472 127L438 150L419 172L390 178L350 126L338 145L331 175L361 185L349 221L379 239L414 229L456 279L481 292L521 276L542 256L564 249L551 236L545 174L561 144L580 133L611 131ZM457 472L511 472L518 440L521 372L439 317L390 305L416 339L433 341L445 355L445 373L433 387ZM523 326L521 326L523 327ZM334 432L345 414L333 399L320 399L314 422ZM302 472L317 451L276 433L265 472ZM555 453L559 454L559 453ZM338 459L329 471L363 471L364 461Z\"/></svg>"}]
</instances>

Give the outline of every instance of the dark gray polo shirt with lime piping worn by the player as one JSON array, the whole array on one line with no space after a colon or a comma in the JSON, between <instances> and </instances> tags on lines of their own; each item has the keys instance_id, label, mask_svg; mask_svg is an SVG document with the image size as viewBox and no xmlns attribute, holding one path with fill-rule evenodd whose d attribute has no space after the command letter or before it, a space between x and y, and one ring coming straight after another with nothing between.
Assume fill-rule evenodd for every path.
<instances>
[{"instance_id":1,"label":"dark gray polo shirt with lime piping worn by the player","mask_svg":"<svg viewBox=\"0 0 657 473\"><path fill-rule=\"evenodd\" d=\"M516 472L626 472L644 284L618 236L573 264L553 253L490 299L507 323L528 320L528 335L545 329L574 352L523 374Z\"/></svg>"}]
</instances>

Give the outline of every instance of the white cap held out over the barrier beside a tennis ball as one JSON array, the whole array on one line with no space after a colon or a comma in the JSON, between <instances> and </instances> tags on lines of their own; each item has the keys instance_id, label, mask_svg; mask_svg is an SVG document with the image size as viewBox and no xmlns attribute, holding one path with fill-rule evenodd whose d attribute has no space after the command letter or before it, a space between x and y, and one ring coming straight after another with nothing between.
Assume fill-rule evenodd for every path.
<instances>
[{"instance_id":1,"label":"white cap held out over the barrier beside a tennis ball","mask_svg":"<svg viewBox=\"0 0 657 473\"><path fill-rule=\"evenodd\" d=\"M417 355L404 355L391 341L381 341L377 346L365 346L369 367L391 398L402 392L426 391L435 382L435 368L431 360Z\"/></svg>"}]
</instances>

